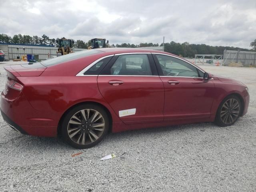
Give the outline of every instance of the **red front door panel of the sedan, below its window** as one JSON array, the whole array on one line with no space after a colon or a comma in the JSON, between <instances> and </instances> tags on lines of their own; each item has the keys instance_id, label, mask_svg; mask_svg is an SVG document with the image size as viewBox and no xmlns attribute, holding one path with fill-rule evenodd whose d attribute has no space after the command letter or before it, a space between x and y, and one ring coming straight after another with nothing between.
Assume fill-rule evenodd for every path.
<instances>
[{"instance_id":1,"label":"red front door panel of the sedan, below its window","mask_svg":"<svg viewBox=\"0 0 256 192\"><path fill-rule=\"evenodd\" d=\"M165 88L164 120L209 118L214 83L202 78L161 77ZM168 81L178 81L169 84Z\"/></svg>"}]
</instances>

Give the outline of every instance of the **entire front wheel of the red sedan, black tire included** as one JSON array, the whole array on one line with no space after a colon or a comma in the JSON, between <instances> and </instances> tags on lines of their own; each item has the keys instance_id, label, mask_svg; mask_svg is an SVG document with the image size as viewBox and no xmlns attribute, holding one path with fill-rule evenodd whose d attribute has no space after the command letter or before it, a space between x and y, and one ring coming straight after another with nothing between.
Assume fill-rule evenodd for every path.
<instances>
[{"instance_id":1,"label":"entire front wheel of the red sedan, black tire included","mask_svg":"<svg viewBox=\"0 0 256 192\"><path fill-rule=\"evenodd\" d=\"M237 104L239 104L239 110L237 106L235 110L232 110L232 108L234 107L232 106L229 107L229 103L232 101L234 102L234 100L237 101ZM228 108L226 108L227 105L228 105ZM226 127L234 124L238 120L241 114L241 110L242 110L242 103L240 98L238 98L238 96L235 96L235 95L227 96L226 98L224 98L224 100L222 100L222 102L218 107L216 117L215 117L215 124L221 127ZM226 119L226 116L227 116L227 119Z\"/></svg>"}]
</instances>

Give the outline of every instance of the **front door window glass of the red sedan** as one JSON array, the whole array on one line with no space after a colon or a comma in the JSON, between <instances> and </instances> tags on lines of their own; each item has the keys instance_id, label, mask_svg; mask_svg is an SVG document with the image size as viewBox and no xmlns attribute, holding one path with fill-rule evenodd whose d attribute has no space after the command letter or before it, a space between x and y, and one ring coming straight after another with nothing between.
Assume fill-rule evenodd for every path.
<instances>
[{"instance_id":1,"label":"front door window glass of the red sedan","mask_svg":"<svg viewBox=\"0 0 256 192\"><path fill-rule=\"evenodd\" d=\"M164 76L200 77L196 67L178 58L156 54Z\"/></svg>"}]
</instances>

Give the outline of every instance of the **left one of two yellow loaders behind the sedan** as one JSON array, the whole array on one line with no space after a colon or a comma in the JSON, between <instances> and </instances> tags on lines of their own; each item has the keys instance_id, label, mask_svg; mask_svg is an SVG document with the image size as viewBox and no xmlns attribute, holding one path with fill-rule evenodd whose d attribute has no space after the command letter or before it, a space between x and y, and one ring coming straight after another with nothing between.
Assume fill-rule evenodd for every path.
<instances>
[{"instance_id":1,"label":"left one of two yellow loaders behind the sedan","mask_svg":"<svg viewBox=\"0 0 256 192\"><path fill-rule=\"evenodd\" d=\"M72 53L74 41L66 38L57 39L56 43L58 44L57 57Z\"/></svg>"}]
</instances>

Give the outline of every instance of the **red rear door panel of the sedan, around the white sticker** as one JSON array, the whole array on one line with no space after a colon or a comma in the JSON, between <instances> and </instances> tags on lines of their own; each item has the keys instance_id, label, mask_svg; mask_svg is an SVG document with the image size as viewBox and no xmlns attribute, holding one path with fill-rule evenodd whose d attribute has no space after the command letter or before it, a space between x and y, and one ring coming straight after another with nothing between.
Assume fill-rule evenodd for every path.
<instances>
[{"instance_id":1,"label":"red rear door panel of the sedan, around the white sticker","mask_svg":"<svg viewBox=\"0 0 256 192\"><path fill-rule=\"evenodd\" d=\"M124 83L108 83L113 80ZM125 124L163 121L164 86L158 76L98 76L98 87L117 116L120 110L136 108L135 115L122 117Z\"/></svg>"}]
</instances>

